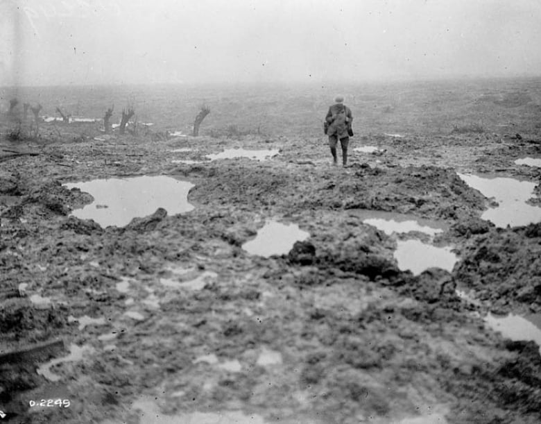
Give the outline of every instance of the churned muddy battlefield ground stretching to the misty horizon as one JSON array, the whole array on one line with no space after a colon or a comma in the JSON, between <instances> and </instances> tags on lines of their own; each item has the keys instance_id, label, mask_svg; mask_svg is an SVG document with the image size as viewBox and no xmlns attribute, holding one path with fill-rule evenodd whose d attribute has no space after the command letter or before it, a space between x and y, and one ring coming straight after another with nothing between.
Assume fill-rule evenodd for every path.
<instances>
[{"instance_id":1,"label":"churned muddy battlefield ground stretching to the misty horizon","mask_svg":"<svg viewBox=\"0 0 541 424\"><path fill-rule=\"evenodd\" d=\"M200 137L168 135L189 120L160 123L151 109L143 119L155 125L134 135L43 122L40 137L24 125L14 137L4 112L2 422L539 423L541 224L483 219L518 194L488 198L464 177L533 183L522 203L541 221L541 168L515 163L541 158L535 87L346 96L357 120L345 168L320 135L325 93L284 90L278 105L254 95L248 109L262 118L251 124L234 121L235 92L212 97ZM279 126L288 100L294 113ZM226 149L273 153L207 157ZM165 196L190 210L158 203L118 226L74 216L105 212L122 193L93 204L69 183L141 176L191 183ZM167 180L136 181L130 202L144 205ZM391 232L370 219L425 227ZM309 237L250 253L271 222ZM264 248L294 232L281 228ZM526 336L494 330L508 314L523 320L512 333L531 325Z\"/></svg>"}]
</instances>

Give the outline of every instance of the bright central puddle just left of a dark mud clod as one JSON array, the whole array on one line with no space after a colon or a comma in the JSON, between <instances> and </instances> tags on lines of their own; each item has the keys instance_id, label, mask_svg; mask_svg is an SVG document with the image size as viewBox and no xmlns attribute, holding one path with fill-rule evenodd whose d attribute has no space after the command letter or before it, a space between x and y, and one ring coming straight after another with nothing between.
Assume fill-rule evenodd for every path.
<instances>
[{"instance_id":1,"label":"bright central puddle just left of a dark mud clod","mask_svg":"<svg viewBox=\"0 0 541 424\"><path fill-rule=\"evenodd\" d=\"M242 248L250 255L270 257L286 255L291 251L295 241L304 241L310 237L309 232L302 231L296 224L284 225L276 221L268 221L257 231L255 239L247 241Z\"/></svg>"}]
</instances>

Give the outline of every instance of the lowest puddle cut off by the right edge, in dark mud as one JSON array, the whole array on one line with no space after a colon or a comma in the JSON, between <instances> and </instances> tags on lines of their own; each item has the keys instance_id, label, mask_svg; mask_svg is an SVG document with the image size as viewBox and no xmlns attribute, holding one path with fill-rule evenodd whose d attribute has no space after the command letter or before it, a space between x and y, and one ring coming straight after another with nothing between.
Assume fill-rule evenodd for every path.
<instances>
[{"instance_id":1,"label":"lowest puddle cut off by the right edge, in dark mud","mask_svg":"<svg viewBox=\"0 0 541 424\"><path fill-rule=\"evenodd\" d=\"M498 317L489 312L484 320L492 330L501 332L507 339L513 341L535 341L540 346L539 353L541 355L541 314L533 315L530 319L526 319L513 314ZM535 323L538 324L536 325Z\"/></svg>"}]
</instances>

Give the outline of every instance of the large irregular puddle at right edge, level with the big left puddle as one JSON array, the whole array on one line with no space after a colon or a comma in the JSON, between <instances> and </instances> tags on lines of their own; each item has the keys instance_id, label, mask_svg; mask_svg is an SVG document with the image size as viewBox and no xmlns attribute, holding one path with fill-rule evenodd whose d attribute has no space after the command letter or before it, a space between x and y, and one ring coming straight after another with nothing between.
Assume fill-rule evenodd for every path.
<instances>
[{"instance_id":1,"label":"large irregular puddle at right edge, level with the big left puddle","mask_svg":"<svg viewBox=\"0 0 541 424\"><path fill-rule=\"evenodd\" d=\"M481 178L472 174L458 176L470 187L479 190L483 196L495 198L498 207L492 207L481 215L499 228L527 226L541 221L541 207L526 203L535 197L533 189L536 184L519 181L514 178Z\"/></svg>"}]
</instances>

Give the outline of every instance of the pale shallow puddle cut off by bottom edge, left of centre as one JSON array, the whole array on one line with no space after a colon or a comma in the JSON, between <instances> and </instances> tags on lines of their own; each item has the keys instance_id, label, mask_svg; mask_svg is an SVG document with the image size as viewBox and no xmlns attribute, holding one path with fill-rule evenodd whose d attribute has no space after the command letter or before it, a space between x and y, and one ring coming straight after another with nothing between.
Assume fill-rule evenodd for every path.
<instances>
[{"instance_id":1,"label":"pale shallow puddle cut off by bottom edge, left of centre","mask_svg":"<svg viewBox=\"0 0 541 424\"><path fill-rule=\"evenodd\" d=\"M244 414L241 411L190 412L166 415L152 396L141 396L132 403L132 411L137 411L139 422L145 424L265 424L257 414ZM101 424L119 424L121 421L106 420Z\"/></svg>"}]
</instances>

